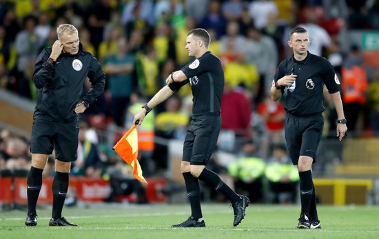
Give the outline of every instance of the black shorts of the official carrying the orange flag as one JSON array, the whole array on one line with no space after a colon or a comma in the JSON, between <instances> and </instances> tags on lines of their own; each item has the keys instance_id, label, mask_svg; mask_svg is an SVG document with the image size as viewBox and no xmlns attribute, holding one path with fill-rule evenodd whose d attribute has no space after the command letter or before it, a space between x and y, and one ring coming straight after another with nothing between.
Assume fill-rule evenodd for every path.
<instances>
[{"instance_id":1,"label":"black shorts of the official carrying the orange flag","mask_svg":"<svg viewBox=\"0 0 379 239\"><path fill-rule=\"evenodd\" d=\"M184 140L183 161L205 166L216 148L220 130L221 115L193 117Z\"/></svg>"}]
</instances>

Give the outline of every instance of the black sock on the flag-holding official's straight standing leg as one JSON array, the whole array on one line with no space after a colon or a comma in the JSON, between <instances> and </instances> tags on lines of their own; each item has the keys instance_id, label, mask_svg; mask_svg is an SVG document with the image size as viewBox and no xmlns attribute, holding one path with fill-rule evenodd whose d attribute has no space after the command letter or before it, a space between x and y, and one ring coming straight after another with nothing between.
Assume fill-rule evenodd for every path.
<instances>
[{"instance_id":1,"label":"black sock on the flag-holding official's straight standing leg","mask_svg":"<svg viewBox=\"0 0 379 239\"><path fill-rule=\"evenodd\" d=\"M198 184L198 179L193 177L190 172L183 172L183 177L189 204L191 205L191 216L193 216L195 220L198 220L198 218L203 217L203 214L201 214L200 185Z\"/></svg>"}]
</instances>

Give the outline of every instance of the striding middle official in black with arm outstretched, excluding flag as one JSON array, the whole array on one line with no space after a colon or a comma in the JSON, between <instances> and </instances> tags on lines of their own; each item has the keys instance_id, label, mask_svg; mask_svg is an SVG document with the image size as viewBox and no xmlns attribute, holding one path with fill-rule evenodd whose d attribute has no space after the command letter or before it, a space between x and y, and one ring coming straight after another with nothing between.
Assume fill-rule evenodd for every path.
<instances>
[{"instance_id":1,"label":"striding middle official in black with arm outstretched, excluding flag","mask_svg":"<svg viewBox=\"0 0 379 239\"><path fill-rule=\"evenodd\" d=\"M208 51L210 41L210 36L204 29L196 28L188 32L185 49L189 56L194 56L196 59L185 65L180 71L175 71L168 76L167 86L158 91L152 100L134 116L134 124L137 120L141 124L145 115L154 106L169 98L188 82L191 84L194 102L193 117L183 145L181 172L187 188L192 215L185 222L172 225L172 227L205 227L201 213L198 179L223 193L229 199L234 209L234 227L243 219L245 209L249 205L249 199L246 196L236 194L216 173L205 168L216 148L221 129L220 104L224 88L223 67L220 59Z\"/></svg>"}]
</instances>

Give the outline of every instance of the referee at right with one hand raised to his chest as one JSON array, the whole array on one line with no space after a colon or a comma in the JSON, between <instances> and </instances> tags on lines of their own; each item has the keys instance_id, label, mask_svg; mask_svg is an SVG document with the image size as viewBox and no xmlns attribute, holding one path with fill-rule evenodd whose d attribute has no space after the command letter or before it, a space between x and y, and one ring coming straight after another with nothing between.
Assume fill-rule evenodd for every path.
<instances>
[{"instance_id":1,"label":"referee at right with one hand raised to his chest","mask_svg":"<svg viewBox=\"0 0 379 239\"><path fill-rule=\"evenodd\" d=\"M316 210L316 192L311 166L322 135L324 117L322 111L323 88L326 85L338 115L337 137L340 140L347 131L340 97L340 81L331 64L319 56L310 54L307 30L294 27L289 32L288 45L294 55L280 62L272 82L272 100L277 101L287 87L285 110L285 139L292 163L297 165L300 176L301 214L298 228L321 228Z\"/></svg>"}]
</instances>

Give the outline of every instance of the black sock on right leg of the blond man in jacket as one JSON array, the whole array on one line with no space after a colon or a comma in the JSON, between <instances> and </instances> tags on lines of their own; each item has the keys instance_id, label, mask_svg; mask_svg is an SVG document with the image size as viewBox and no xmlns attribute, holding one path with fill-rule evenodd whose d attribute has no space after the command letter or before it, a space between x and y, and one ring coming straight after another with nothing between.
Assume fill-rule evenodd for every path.
<instances>
[{"instance_id":1,"label":"black sock on right leg of the blond man in jacket","mask_svg":"<svg viewBox=\"0 0 379 239\"><path fill-rule=\"evenodd\" d=\"M62 217L65 195L68 191L68 172L55 172L52 181L52 218L57 220Z\"/></svg>"}]
</instances>

